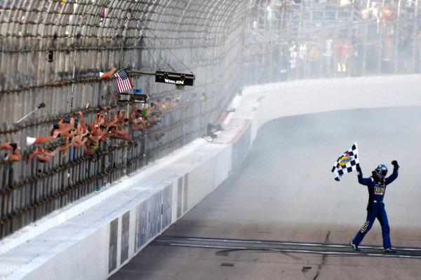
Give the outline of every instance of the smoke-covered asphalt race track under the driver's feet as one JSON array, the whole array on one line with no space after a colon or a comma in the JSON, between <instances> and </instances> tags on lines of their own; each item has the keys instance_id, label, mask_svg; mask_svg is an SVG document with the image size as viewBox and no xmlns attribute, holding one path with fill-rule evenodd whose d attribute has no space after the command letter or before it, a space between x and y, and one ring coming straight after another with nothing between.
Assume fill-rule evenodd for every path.
<instances>
[{"instance_id":1,"label":"smoke-covered asphalt race track under the driver's feet","mask_svg":"<svg viewBox=\"0 0 421 280\"><path fill-rule=\"evenodd\" d=\"M354 142L364 177L401 166L384 199L396 254L378 222L349 246L368 192L330 170ZM235 173L110 279L421 279L420 143L420 107L270 121Z\"/></svg>"}]
</instances>

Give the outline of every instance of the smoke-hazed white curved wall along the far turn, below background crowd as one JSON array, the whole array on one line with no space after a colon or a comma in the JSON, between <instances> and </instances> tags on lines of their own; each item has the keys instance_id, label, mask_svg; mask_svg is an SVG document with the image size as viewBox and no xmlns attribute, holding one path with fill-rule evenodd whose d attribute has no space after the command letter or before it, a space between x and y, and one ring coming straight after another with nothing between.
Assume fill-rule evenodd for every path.
<instances>
[{"instance_id":1,"label":"smoke-hazed white curved wall along the far turn, below background crowd","mask_svg":"<svg viewBox=\"0 0 421 280\"><path fill-rule=\"evenodd\" d=\"M250 86L243 91L243 117L253 119L252 140L262 124L282 116L342 109L421 105L421 76L374 76ZM352 94L349 94L352 91ZM399 93L399 94L396 94ZM260 102L257 100L260 99ZM253 107L258 111L250 114Z\"/></svg>"}]
</instances>

